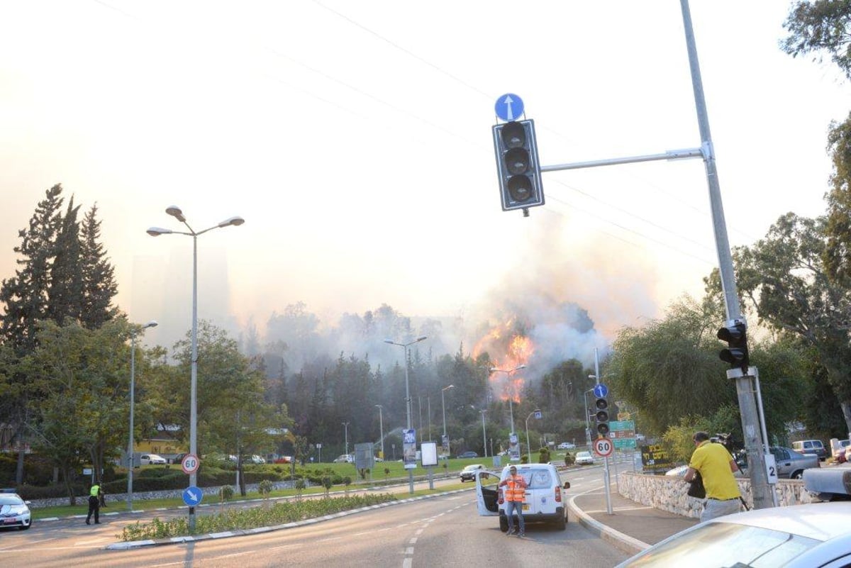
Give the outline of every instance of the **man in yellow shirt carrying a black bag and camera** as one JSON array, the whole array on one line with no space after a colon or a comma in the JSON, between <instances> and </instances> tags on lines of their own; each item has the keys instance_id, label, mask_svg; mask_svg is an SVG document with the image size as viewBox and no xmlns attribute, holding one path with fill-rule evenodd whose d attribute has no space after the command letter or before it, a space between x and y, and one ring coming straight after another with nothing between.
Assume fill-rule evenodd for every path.
<instances>
[{"instance_id":1,"label":"man in yellow shirt carrying a black bag and camera","mask_svg":"<svg viewBox=\"0 0 851 568\"><path fill-rule=\"evenodd\" d=\"M725 514L738 513L741 493L739 484L733 476L739 471L733 456L722 444L713 444L705 432L694 434L694 445L697 446L688 463L685 480L694 480L697 472L703 478L706 488L706 503L700 522L715 519Z\"/></svg>"}]
</instances>

